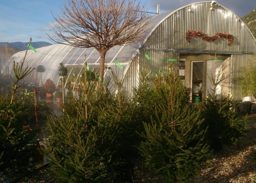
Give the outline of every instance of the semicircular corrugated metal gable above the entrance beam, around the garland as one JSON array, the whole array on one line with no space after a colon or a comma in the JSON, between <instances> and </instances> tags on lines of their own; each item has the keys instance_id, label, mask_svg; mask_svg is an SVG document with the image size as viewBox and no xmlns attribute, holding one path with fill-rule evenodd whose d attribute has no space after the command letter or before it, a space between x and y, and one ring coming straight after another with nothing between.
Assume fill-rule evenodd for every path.
<instances>
[{"instance_id":1,"label":"semicircular corrugated metal gable above the entrance beam, around the garland","mask_svg":"<svg viewBox=\"0 0 256 183\"><path fill-rule=\"evenodd\" d=\"M213 10L210 10L210 7L210 2L202 2L176 10L156 27L143 47L254 53L255 39L239 17L218 4ZM205 42L199 37L192 37L189 43L185 40L185 32L188 30L201 30L208 36L216 33L232 34L235 42L229 46L224 38Z\"/></svg>"}]
</instances>

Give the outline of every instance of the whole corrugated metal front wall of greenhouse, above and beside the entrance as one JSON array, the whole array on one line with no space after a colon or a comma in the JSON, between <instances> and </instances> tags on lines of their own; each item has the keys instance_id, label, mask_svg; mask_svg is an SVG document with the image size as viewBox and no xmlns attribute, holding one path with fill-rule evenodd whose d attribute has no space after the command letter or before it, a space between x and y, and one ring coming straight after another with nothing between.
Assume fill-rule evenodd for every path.
<instances>
[{"instance_id":1,"label":"whole corrugated metal front wall of greenhouse, above and beside the entrance","mask_svg":"<svg viewBox=\"0 0 256 183\"><path fill-rule=\"evenodd\" d=\"M236 81L240 76L240 69L248 62L248 58L253 59L253 53L256 52L256 40L252 36L246 25L230 10L221 5L213 6L211 10L210 2L200 2L187 5L177 9L160 21L159 25L145 41L140 49L140 61L146 61L152 74L159 69L165 72L168 69L166 62L169 58L179 59L179 53L172 52L172 49L189 49L189 50L209 50L209 51L226 51L228 52L244 52L246 55L234 55L232 60L232 79L235 83L232 85L232 94L237 99L240 99L240 86ZM214 42L205 42L199 37L192 37L190 43L185 40L185 32L188 30L203 31L208 36L213 36L216 33L232 34L235 37L235 42L231 45L227 44L227 40L221 38ZM147 53L150 60L144 57ZM249 54L249 55L247 55ZM132 73L138 70L138 57L136 64L131 62L127 79L124 82L124 87L127 92L131 86L136 86L138 81L134 80L138 76L132 76ZM128 78L133 78L132 83L128 82ZM129 92L130 93L130 92Z\"/></svg>"}]
</instances>

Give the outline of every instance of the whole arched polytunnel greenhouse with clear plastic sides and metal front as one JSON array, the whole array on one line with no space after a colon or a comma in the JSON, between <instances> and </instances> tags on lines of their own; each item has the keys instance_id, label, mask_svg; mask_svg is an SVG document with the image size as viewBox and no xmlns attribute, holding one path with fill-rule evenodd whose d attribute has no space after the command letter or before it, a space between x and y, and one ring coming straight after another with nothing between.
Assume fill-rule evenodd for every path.
<instances>
[{"instance_id":1,"label":"whole arched polytunnel greenhouse with clear plastic sides and metal front","mask_svg":"<svg viewBox=\"0 0 256 183\"><path fill-rule=\"evenodd\" d=\"M233 12L215 1L198 2L151 17L147 26L151 29L144 40L115 46L107 52L104 83L111 80L112 71L117 69L122 90L131 96L139 83L141 63L150 68L153 76L167 73L175 66L185 85L191 88L191 99L195 96L202 99L202 92L207 94L211 87L207 75L213 72L224 76L218 90L241 98L238 77L241 67L254 59L256 40ZM20 61L24 54L25 51L18 52L12 60ZM58 85L58 66L62 62L69 70L65 87L70 82L75 90L84 70L85 55L87 64L97 75L100 55L94 48L54 44L37 49L37 53L29 50L25 63L30 67L45 67L42 81L37 83L41 86L47 78ZM116 60L123 69L116 65ZM34 72L28 77L30 82L35 83L35 75Z\"/></svg>"}]
</instances>

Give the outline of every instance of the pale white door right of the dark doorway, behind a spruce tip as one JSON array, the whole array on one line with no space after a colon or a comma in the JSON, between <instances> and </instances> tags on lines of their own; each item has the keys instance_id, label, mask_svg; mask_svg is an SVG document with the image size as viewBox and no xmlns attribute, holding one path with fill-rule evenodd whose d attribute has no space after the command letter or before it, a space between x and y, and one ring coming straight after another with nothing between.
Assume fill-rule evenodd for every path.
<instances>
[{"instance_id":1,"label":"pale white door right of the dark doorway, behind a spruce tip","mask_svg":"<svg viewBox=\"0 0 256 183\"><path fill-rule=\"evenodd\" d=\"M215 71L214 72L214 68ZM211 83L210 78L214 78L215 74L215 79L220 80L222 77L222 62L221 61L215 61L215 60L207 60L207 78L206 78L206 95L211 94L213 92L213 84ZM219 78L218 78L219 75ZM221 94L221 83L217 86L216 88L216 94Z\"/></svg>"}]
</instances>

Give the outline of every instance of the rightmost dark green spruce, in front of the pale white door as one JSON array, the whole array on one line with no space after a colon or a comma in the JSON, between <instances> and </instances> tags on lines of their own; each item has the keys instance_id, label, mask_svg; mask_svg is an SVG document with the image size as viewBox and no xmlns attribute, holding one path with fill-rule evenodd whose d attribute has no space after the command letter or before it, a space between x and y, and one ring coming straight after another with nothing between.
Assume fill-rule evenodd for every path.
<instances>
[{"instance_id":1,"label":"rightmost dark green spruce, in front of the pale white door","mask_svg":"<svg viewBox=\"0 0 256 183\"><path fill-rule=\"evenodd\" d=\"M203 126L208 127L207 143L211 149L218 151L222 148L222 143L235 142L245 130L246 117L239 117L235 111L237 102L229 95L216 95L216 88L221 83L220 75L217 78L211 76L213 89L205 97L205 102L199 106L201 119L204 119Z\"/></svg>"}]
</instances>

